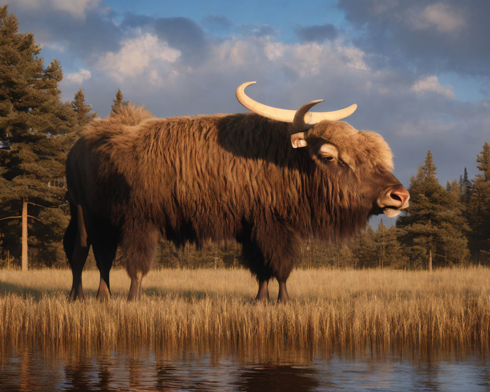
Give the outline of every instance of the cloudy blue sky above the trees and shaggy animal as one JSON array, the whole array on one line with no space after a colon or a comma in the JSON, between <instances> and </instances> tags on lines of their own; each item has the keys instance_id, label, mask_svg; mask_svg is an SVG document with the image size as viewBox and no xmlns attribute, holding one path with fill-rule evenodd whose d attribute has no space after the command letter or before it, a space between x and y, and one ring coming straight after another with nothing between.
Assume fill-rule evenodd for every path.
<instances>
[{"instance_id":1,"label":"cloudy blue sky above the trees and shaggy animal","mask_svg":"<svg viewBox=\"0 0 490 392\"><path fill-rule=\"evenodd\" d=\"M12 0L65 100L82 87L100 116L120 88L159 117L245 109L235 88L288 109L359 105L347 121L381 133L408 187L427 150L442 184L490 141L487 0ZM321 106L321 107L320 107ZM389 221L388 223L392 223Z\"/></svg>"}]
</instances>

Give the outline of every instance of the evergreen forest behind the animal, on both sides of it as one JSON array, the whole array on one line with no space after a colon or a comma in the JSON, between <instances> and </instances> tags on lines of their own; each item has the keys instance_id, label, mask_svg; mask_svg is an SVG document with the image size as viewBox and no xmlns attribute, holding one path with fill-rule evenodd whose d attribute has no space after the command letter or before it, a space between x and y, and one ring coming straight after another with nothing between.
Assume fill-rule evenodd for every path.
<instances>
[{"instance_id":1,"label":"evergreen forest behind the animal, on both sides of it","mask_svg":"<svg viewBox=\"0 0 490 392\"><path fill-rule=\"evenodd\" d=\"M65 267L63 234L70 211L64 164L83 126L97 117L80 88L63 102L63 70L41 57L31 33L0 7L0 268ZM112 110L123 105L116 93ZM303 245L301 266L432 269L490 265L490 144L466 168L441 185L430 151L411 178L410 207L387 227L383 221L346 244ZM95 265L93 260L89 264ZM116 262L117 264L117 262ZM238 244L175 249L161 242L155 265L233 267Z\"/></svg>"}]
</instances>

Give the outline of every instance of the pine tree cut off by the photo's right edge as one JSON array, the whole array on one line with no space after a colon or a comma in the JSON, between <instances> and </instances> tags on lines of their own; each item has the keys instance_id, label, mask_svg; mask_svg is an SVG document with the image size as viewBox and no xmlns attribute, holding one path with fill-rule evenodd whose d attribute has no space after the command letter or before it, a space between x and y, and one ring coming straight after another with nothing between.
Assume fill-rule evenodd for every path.
<instances>
[{"instance_id":1,"label":"pine tree cut off by the photo's right edge","mask_svg":"<svg viewBox=\"0 0 490 392\"><path fill-rule=\"evenodd\" d=\"M476 263L490 264L490 144L477 156L480 171L473 179L467 215L471 226L470 247Z\"/></svg>"}]
</instances>

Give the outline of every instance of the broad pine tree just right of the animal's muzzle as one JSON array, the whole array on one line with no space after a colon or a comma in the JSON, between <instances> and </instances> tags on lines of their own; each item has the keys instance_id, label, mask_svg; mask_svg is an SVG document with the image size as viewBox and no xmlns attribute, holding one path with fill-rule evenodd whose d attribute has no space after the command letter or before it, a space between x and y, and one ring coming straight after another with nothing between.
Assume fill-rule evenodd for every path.
<instances>
[{"instance_id":1,"label":"broad pine tree just right of the animal's muzzle","mask_svg":"<svg viewBox=\"0 0 490 392\"><path fill-rule=\"evenodd\" d=\"M451 197L451 187L448 192L441 186L436 170L428 151L424 165L410 181L410 206L396 222L404 230L401 239L410 247L412 264L425 264L429 270L433 264L461 263L468 256L463 206Z\"/></svg>"}]
</instances>

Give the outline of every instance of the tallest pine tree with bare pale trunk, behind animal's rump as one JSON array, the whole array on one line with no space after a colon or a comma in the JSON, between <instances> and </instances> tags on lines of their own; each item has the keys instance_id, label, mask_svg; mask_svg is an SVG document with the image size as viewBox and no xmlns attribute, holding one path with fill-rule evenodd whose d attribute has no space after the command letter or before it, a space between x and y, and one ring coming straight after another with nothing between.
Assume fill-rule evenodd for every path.
<instances>
[{"instance_id":1,"label":"tallest pine tree with bare pale trunk, behind animal's rump","mask_svg":"<svg viewBox=\"0 0 490 392\"><path fill-rule=\"evenodd\" d=\"M0 155L2 182L8 195L0 197L4 246L19 255L22 227L23 269L26 269L27 228L34 255L49 263L64 259L61 238L68 223L66 189L54 180L64 174L67 135L76 126L69 103L61 103L59 61L44 69L44 59L32 34L18 33L15 15L0 8ZM4 219L21 217L19 219ZM26 223L27 222L27 223Z\"/></svg>"}]
</instances>

